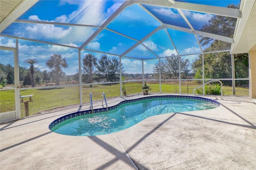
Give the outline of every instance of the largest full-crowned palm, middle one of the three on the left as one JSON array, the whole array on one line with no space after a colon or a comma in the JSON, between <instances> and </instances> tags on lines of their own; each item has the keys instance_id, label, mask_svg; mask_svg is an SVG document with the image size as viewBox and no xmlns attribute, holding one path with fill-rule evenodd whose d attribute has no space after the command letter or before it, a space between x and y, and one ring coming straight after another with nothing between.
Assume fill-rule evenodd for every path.
<instances>
[{"instance_id":1,"label":"largest full-crowned palm, middle one of the three on the left","mask_svg":"<svg viewBox=\"0 0 256 170\"><path fill-rule=\"evenodd\" d=\"M62 57L62 55L60 55L60 54L53 54L50 56L50 59L48 59L46 61L46 66L49 69L52 69L52 71L54 72L55 78L56 78L56 85L60 85L59 79L62 74L61 67L63 67L63 68L68 67L66 58Z\"/></svg>"}]
</instances>

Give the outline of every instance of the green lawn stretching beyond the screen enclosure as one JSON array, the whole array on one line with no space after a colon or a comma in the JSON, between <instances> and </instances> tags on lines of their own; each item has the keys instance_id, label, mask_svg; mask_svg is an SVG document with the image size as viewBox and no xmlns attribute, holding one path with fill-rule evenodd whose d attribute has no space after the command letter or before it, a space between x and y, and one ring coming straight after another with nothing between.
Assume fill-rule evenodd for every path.
<instances>
[{"instance_id":1,"label":"green lawn stretching beyond the screen enclosure","mask_svg":"<svg viewBox=\"0 0 256 170\"><path fill-rule=\"evenodd\" d=\"M160 87L158 82L147 81L147 85L152 88L150 93L159 93ZM142 93L142 83L131 82L125 83L127 95ZM192 91L198 85L194 84L182 84L181 92L183 94L192 94ZM226 87L227 91L224 95L232 95L232 87ZM176 84L162 84L162 93L179 93L178 81ZM111 85L89 85L82 86L82 102L89 101L89 93L92 93L92 99L101 99L102 92L105 93L106 97L120 96L120 84ZM248 96L249 90L243 87L236 87L236 95ZM79 101L79 86L73 87L60 87L53 89L29 89L20 90L20 95L33 95L32 99L34 102L30 102L29 115L35 115L40 111L53 109L56 107L62 107L67 105L74 105L80 103ZM0 113L15 111L15 97L14 90L0 91ZM24 117L24 104L20 103L21 116Z\"/></svg>"}]
</instances>

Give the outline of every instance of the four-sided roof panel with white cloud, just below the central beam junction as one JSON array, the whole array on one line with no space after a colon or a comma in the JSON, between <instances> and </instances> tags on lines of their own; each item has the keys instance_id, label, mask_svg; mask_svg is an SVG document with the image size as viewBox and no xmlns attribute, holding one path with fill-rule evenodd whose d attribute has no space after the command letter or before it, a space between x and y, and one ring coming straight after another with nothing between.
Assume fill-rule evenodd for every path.
<instances>
[{"instance_id":1,"label":"four-sided roof panel with white cloud, just below the central beam junction","mask_svg":"<svg viewBox=\"0 0 256 170\"><path fill-rule=\"evenodd\" d=\"M158 57L166 57L172 53L177 55L177 52L172 45L172 42L166 30L160 30L143 42L146 47L156 53Z\"/></svg>"}]
</instances>

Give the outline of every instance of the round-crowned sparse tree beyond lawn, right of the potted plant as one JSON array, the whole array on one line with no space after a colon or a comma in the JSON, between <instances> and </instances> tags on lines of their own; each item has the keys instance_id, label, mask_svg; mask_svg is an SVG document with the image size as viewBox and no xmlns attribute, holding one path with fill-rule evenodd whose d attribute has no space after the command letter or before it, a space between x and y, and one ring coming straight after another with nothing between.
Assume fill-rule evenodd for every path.
<instances>
[{"instance_id":1,"label":"round-crowned sparse tree beyond lawn, right of the potted plant","mask_svg":"<svg viewBox=\"0 0 256 170\"><path fill-rule=\"evenodd\" d=\"M180 56L172 54L166 56L165 59L161 60L161 77L178 79L179 77L179 60L180 60L180 74L182 77L186 77L190 71L190 62L188 59L184 59ZM154 65L154 73L159 74L159 62Z\"/></svg>"}]
</instances>

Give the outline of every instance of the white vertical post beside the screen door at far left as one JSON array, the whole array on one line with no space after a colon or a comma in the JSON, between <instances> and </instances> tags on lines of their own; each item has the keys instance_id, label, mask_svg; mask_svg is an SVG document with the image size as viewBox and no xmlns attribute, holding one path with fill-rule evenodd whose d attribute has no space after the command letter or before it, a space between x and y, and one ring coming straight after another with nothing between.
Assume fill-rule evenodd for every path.
<instances>
[{"instance_id":1,"label":"white vertical post beside the screen door at far left","mask_svg":"<svg viewBox=\"0 0 256 170\"><path fill-rule=\"evenodd\" d=\"M15 86L15 110L16 119L20 116L20 73L19 73L19 42L16 39L16 50L14 51L14 86Z\"/></svg>"}]
</instances>

